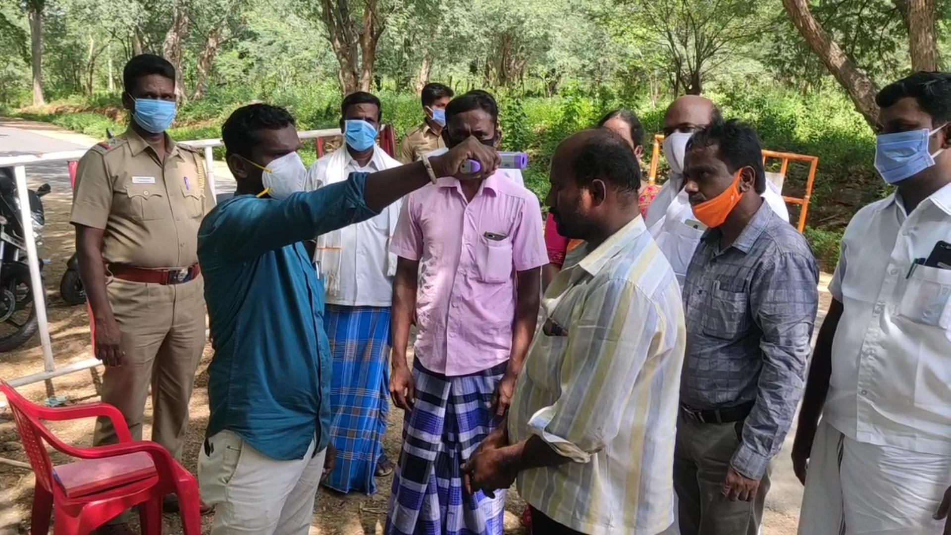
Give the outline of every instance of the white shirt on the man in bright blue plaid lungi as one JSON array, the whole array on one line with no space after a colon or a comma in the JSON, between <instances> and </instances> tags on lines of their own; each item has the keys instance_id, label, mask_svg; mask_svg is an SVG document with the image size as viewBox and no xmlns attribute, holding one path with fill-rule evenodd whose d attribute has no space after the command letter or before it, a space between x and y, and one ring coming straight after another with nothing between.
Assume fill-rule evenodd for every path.
<instances>
[{"instance_id":1,"label":"white shirt on the man in bright blue plaid lungi","mask_svg":"<svg viewBox=\"0 0 951 535\"><path fill-rule=\"evenodd\" d=\"M321 157L308 171L306 189L342 182L351 172L375 172L400 165L398 162L394 165L396 160L392 158L383 158L385 154L382 154L382 149L377 148L376 152L380 154L375 154L363 168L345 148ZM333 163L335 156L343 156L345 164L342 172L340 166ZM396 265L389 255L392 232L390 210L398 212L401 204L398 201L366 221L329 233L339 233L337 236L326 236L326 240L319 240L319 247L325 243L334 249L330 255L321 255L321 251L317 251L327 303L346 307L392 305ZM321 258L326 260L320 261Z\"/></svg>"}]
</instances>

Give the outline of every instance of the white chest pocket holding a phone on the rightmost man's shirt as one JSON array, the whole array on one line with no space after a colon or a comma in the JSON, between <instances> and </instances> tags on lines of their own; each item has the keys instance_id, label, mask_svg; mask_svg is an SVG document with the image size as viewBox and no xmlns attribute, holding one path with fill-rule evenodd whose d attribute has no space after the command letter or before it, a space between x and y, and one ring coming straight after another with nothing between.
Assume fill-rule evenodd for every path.
<instances>
[{"instance_id":1,"label":"white chest pocket holding a phone on the rightmost man's shirt","mask_svg":"<svg viewBox=\"0 0 951 535\"><path fill-rule=\"evenodd\" d=\"M923 326L951 329L951 269L917 266L904 288L898 315Z\"/></svg>"}]
</instances>

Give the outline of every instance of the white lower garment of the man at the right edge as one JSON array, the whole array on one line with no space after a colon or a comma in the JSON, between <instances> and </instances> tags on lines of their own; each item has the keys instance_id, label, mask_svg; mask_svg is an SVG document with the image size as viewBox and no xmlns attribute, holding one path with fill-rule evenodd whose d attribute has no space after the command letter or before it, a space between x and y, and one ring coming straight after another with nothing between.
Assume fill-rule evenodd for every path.
<instances>
[{"instance_id":1,"label":"white lower garment of the man at the right edge","mask_svg":"<svg viewBox=\"0 0 951 535\"><path fill-rule=\"evenodd\" d=\"M941 533L933 515L948 485L951 457L856 442L821 422L799 535Z\"/></svg>"}]
</instances>

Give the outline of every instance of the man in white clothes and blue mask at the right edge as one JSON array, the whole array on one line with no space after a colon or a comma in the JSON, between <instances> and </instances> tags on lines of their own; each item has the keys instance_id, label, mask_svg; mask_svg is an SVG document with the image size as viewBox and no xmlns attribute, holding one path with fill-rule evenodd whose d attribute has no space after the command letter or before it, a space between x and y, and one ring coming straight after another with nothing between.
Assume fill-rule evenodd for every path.
<instances>
[{"instance_id":1,"label":"man in white clothes and blue mask at the right edge","mask_svg":"<svg viewBox=\"0 0 951 535\"><path fill-rule=\"evenodd\" d=\"M875 102L897 191L852 218L829 284L792 449L803 535L951 533L951 73Z\"/></svg>"}]
</instances>

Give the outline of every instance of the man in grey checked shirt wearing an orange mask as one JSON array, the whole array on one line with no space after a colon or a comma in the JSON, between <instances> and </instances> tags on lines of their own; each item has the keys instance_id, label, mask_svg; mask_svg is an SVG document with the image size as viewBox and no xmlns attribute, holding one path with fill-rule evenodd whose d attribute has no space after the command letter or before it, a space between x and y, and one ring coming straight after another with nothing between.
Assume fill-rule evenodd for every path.
<instances>
[{"instance_id":1,"label":"man in grey checked shirt wearing an orange mask","mask_svg":"<svg viewBox=\"0 0 951 535\"><path fill-rule=\"evenodd\" d=\"M708 228L684 286L687 355L674 452L683 535L754 535L769 463L803 394L819 278L803 236L760 196L756 132L693 134L685 190Z\"/></svg>"}]
</instances>

